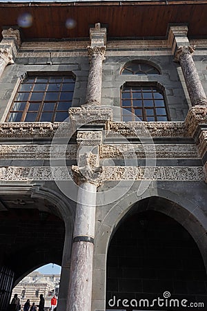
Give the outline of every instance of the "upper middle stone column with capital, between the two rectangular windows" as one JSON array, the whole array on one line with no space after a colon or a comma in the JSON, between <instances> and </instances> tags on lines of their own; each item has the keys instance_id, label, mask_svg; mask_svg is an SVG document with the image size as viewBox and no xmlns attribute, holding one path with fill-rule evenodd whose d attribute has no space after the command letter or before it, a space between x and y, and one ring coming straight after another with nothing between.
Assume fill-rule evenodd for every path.
<instances>
[{"instance_id":1,"label":"upper middle stone column with capital, between the two rectangular windows","mask_svg":"<svg viewBox=\"0 0 207 311\"><path fill-rule=\"evenodd\" d=\"M90 28L91 44L88 46L90 69L86 90L86 104L101 104L102 63L106 51L106 28L101 28L100 23L95 28Z\"/></svg>"}]
</instances>

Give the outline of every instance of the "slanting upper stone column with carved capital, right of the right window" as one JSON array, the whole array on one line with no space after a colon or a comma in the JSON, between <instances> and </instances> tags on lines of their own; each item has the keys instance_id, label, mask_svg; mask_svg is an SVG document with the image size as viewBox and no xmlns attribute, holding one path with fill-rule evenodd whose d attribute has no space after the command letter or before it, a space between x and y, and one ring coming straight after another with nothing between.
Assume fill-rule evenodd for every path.
<instances>
[{"instance_id":1,"label":"slanting upper stone column with carved capital, right of the right window","mask_svg":"<svg viewBox=\"0 0 207 311\"><path fill-rule=\"evenodd\" d=\"M180 46L175 53L175 62L181 65L192 106L207 105L206 94L191 55L193 52L191 46Z\"/></svg>"}]
</instances>

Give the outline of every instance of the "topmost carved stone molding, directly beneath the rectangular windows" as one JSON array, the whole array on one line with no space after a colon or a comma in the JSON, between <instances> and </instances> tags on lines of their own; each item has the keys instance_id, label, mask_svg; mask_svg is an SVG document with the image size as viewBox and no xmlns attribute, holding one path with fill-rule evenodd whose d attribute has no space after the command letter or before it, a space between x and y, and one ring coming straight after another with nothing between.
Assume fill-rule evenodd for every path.
<instances>
[{"instance_id":1,"label":"topmost carved stone molding, directly beneath the rectangular windows","mask_svg":"<svg viewBox=\"0 0 207 311\"><path fill-rule=\"evenodd\" d=\"M204 106L201 106L201 108L206 109ZM191 131L189 130L192 124L189 118L194 116L198 107L194 107L193 109L195 109L193 112L189 111L190 115L192 113L193 115L188 115L185 122L112 122L112 109L101 108L101 106L99 109L88 106L70 108L68 113L72 125L75 128L83 124L105 123L108 137L110 138L115 138L116 135L119 135L119 138L120 135L123 137L139 138L141 135L146 135L146 133L152 137L187 138L192 137ZM202 120L206 120L203 115L200 117L200 113L197 113L196 118L198 119L197 124L202 123ZM68 131L70 126L68 123L5 122L0 123L0 138L52 138L60 125L59 137L69 137Z\"/></svg>"}]
</instances>

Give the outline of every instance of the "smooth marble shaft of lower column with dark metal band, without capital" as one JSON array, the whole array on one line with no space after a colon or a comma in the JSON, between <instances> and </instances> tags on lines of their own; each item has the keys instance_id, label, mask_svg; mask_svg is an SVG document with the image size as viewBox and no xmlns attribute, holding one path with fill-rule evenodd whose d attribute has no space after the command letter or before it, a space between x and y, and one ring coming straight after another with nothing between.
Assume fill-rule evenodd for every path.
<instances>
[{"instance_id":1,"label":"smooth marble shaft of lower column with dark metal band, without capital","mask_svg":"<svg viewBox=\"0 0 207 311\"><path fill-rule=\"evenodd\" d=\"M91 310L96 193L90 182L79 186L67 311Z\"/></svg>"}]
</instances>

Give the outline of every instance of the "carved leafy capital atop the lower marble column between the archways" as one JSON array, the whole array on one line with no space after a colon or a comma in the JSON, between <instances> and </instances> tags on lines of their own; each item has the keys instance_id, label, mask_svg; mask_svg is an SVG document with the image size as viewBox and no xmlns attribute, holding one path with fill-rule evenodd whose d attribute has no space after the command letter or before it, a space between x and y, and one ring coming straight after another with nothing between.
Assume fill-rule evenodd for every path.
<instances>
[{"instance_id":1,"label":"carved leafy capital atop the lower marble column between the archways","mask_svg":"<svg viewBox=\"0 0 207 311\"><path fill-rule=\"evenodd\" d=\"M81 185L83 182L89 182L96 187L101 185L103 167L98 166L98 162L98 156L92 152L79 156L78 166L72 165L71 167L77 185Z\"/></svg>"}]
</instances>

